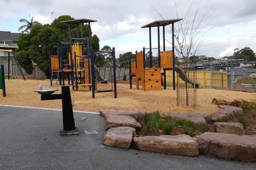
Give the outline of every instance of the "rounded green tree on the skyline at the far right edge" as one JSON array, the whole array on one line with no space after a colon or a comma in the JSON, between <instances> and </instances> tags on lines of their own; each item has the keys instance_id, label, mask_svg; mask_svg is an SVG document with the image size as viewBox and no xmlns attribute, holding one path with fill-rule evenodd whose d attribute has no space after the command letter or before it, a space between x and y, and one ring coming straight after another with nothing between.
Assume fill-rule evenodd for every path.
<instances>
[{"instance_id":1,"label":"rounded green tree on the skyline at the far right edge","mask_svg":"<svg viewBox=\"0 0 256 170\"><path fill-rule=\"evenodd\" d=\"M250 47L245 47L239 50L236 48L234 50L233 59L245 59L247 61L256 61L255 52Z\"/></svg>"}]
</instances>

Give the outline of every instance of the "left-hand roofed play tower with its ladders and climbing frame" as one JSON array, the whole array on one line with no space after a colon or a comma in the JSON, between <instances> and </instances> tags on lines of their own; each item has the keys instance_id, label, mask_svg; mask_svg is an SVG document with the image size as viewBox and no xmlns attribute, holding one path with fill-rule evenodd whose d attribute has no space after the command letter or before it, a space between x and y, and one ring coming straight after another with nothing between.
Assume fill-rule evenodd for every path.
<instances>
[{"instance_id":1,"label":"left-hand roofed play tower with its ladders and climbing frame","mask_svg":"<svg viewBox=\"0 0 256 170\"><path fill-rule=\"evenodd\" d=\"M68 84L71 85L73 90L79 90L81 87L89 87L92 91L92 97L95 97L95 93L112 92L114 91L114 97L116 94L116 78L130 75L123 74L116 75L116 67L131 68L131 60L125 62L116 63L115 48L112 51L97 51L93 52L91 46L91 35L90 35L90 23L97 22L96 20L79 19L79 20L67 20L61 21L61 23L67 23L69 25L69 39L70 42L59 42L57 47L57 56L51 55L49 57L50 63L50 84L52 85L53 76L57 76L56 83L59 81L60 85L65 85L65 77L68 78ZM89 37L83 37L83 24L88 23L89 26ZM70 24L76 24L77 37L71 37ZM79 24L81 26L81 37L79 37ZM65 51L65 54L64 54ZM85 52L87 51L87 54ZM94 64L94 55L111 53L113 56L113 64L104 67L97 68ZM66 58L66 59L64 59ZM65 62L65 63L64 63ZM127 66L129 65L129 66ZM110 74L108 77L100 77L100 71L109 70ZM101 90L97 89L97 84L102 82L111 82L111 89Z\"/></svg>"}]
</instances>

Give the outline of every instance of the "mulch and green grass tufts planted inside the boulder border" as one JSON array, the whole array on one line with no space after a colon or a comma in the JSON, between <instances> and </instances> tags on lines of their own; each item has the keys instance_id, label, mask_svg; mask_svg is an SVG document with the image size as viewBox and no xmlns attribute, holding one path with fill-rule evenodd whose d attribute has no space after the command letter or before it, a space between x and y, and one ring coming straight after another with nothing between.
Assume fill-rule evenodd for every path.
<instances>
[{"instance_id":1,"label":"mulch and green grass tufts planted inside the boulder border","mask_svg":"<svg viewBox=\"0 0 256 170\"><path fill-rule=\"evenodd\" d=\"M242 106L243 114L230 119L216 119L214 122L238 122L244 127L245 135L256 135L256 110L251 105ZM141 130L137 130L137 136L160 136L186 134L192 137L204 132L215 132L214 122L192 123L189 120L175 119L171 116L163 116L160 113L140 114L137 122L141 124Z\"/></svg>"}]
</instances>

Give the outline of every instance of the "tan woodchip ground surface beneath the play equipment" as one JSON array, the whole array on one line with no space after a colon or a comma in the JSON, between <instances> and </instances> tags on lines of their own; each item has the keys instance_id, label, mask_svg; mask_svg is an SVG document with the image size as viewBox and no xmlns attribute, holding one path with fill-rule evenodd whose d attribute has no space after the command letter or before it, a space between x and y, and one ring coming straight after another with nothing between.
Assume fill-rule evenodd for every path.
<instances>
[{"instance_id":1,"label":"tan woodchip ground surface beneath the play equipment","mask_svg":"<svg viewBox=\"0 0 256 170\"><path fill-rule=\"evenodd\" d=\"M34 92L40 84L43 87L49 87L49 80L6 80L7 96L5 98L2 95L0 96L0 104L61 109L61 101L59 100L41 101L40 95ZM56 88L55 86L53 87ZM55 93L61 93L61 86L58 85L57 88L59 91ZM130 89L129 85L117 84L117 99L114 98L112 92L96 93L95 99L92 99L91 91L88 91L88 88L81 89L81 91L72 91L70 86L70 89L72 100L77 103L77 106L73 108L74 110L94 112L116 108L140 111L158 110L161 113L166 111L178 113L192 111L209 114L219 109L215 104L211 103L213 98L224 100L256 99L255 93L197 89L197 108L180 108L176 106L176 91L173 91L171 87L167 87L166 90L162 91L142 91L136 90L135 85L133 89ZM111 84L98 85L98 90L101 89L111 89Z\"/></svg>"}]
</instances>

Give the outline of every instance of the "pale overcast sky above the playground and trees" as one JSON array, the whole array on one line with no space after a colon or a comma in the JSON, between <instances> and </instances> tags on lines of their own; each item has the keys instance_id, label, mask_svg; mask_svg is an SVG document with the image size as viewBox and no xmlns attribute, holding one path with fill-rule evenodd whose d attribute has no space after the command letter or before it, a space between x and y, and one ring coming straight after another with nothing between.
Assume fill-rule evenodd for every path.
<instances>
[{"instance_id":1,"label":"pale overcast sky above the playground and trees","mask_svg":"<svg viewBox=\"0 0 256 170\"><path fill-rule=\"evenodd\" d=\"M176 0L179 18L185 17L192 2ZM197 21L210 9L204 23L210 21L211 34L197 55L218 58L232 55L235 48L244 47L256 51L256 0L196 0L192 11L198 3ZM42 24L51 23L52 17L54 20L64 14L76 19L93 19L98 21L91 26L93 34L100 39L100 48L104 45L115 47L118 56L149 47L148 29L140 27L161 19L153 7L164 19L174 18L174 0L0 0L0 31L18 32L19 19L29 20L29 14ZM156 31L152 28L152 48L157 47ZM168 31L166 39L170 40ZM169 42L166 46L171 49Z\"/></svg>"}]
</instances>

